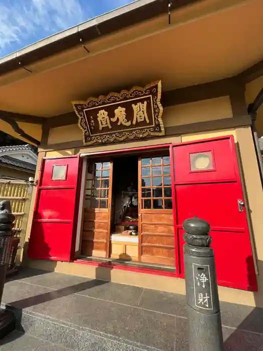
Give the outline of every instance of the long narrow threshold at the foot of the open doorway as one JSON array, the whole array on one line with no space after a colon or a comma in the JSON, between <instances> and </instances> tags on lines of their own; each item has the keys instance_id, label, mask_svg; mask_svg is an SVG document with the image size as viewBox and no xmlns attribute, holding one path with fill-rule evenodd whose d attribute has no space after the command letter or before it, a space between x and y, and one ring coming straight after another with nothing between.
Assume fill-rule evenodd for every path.
<instances>
[{"instance_id":1,"label":"long narrow threshold at the foot of the open doorway","mask_svg":"<svg viewBox=\"0 0 263 351\"><path fill-rule=\"evenodd\" d=\"M145 262L136 262L131 260L123 259L113 259L113 258L102 258L102 257L93 257L93 256L79 256L77 258L78 262L83 263L102 263L114 266L125 266L127 268L141 268L153 271L167 272L167 273L176 273L176 268L167 265L159 265L155 263L145 263Z\"/></svg>"}]
</instances>

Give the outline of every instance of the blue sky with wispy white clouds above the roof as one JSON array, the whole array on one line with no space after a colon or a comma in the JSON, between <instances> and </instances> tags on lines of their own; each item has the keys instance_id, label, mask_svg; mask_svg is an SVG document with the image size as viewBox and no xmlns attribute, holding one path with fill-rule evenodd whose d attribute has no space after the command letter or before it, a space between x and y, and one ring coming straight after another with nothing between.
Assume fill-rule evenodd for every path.
<instances>
[{"instance_id":1,"label":"blue sky with wispy white clouds above the roof","mask_svg":"<svg viewBox=\"0 0 263 351\"><path fill-rule=\"evenodd\" d=\"M0 0L0 57L133 1Z\"/></svg>"}]
</instances>

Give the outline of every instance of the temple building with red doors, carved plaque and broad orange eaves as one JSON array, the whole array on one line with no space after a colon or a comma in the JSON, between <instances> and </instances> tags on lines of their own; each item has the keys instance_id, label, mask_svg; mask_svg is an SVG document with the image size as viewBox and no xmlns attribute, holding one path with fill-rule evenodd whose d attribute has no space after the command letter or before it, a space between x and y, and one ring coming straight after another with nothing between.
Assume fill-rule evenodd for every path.
<instances>
[{"instance_id":1,"label":"temple building with red doors, carved plaque and broad orange eaves","mask_svg":"<svg viewBox=\"0 0 263 351\"><path fill-rule=\"evenodd\" d=\"M0 59L0 128L38 146L23 264L263 307L263 2L138 0ZM260 297L261 296L261 297Z\"/></svg>"}]
</instances>

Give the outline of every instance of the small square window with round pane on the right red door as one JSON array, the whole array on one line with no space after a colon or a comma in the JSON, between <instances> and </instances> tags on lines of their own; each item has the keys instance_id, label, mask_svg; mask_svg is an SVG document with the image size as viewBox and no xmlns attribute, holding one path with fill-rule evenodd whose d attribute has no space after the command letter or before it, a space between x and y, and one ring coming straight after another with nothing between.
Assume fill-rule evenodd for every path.
<instances>
[{"instance_id":1,"label":"small square window with round pane on the right red door","mask_svg":"<svg viewBox=\"0 0 263 351\"><path fill-rule=\"evenodd\" d=\"M189 156L191 172L215 170L212 151L193 152L189 153Z\"/></svg>"}]
</instances>

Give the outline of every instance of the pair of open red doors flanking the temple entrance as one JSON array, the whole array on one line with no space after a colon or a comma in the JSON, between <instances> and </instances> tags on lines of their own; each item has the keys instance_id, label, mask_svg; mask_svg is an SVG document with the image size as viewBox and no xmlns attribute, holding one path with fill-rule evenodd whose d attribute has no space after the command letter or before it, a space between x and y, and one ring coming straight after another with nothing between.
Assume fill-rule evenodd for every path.
<instances>
[{"instance_id":1,"label":"pair of open red doors flanking the temple entrance","mask_svg":"<svg viewBox=\"0 0 263 351\"><path fill-rule=\"evenodd\" d=\"M171 145L175 258L183 269L183 221L210 223L218 283L256 290L246 209L232 136ZM81 163L46 158L41 167L29 242L31 258L70 261L75 255Z\"/></svg>"}]
</instances>

